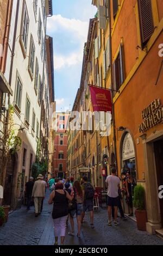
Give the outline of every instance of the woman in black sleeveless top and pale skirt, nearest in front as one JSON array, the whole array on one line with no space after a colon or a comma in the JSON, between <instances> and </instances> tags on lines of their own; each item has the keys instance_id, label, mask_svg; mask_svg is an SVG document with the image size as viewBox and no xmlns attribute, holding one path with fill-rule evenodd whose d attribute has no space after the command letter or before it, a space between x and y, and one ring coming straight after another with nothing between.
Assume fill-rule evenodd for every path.
<instances>
[{"instance_id":1,"label":"woman in black sleeveless top and pale skirt, nearest in front","mask_svg":"<svg viewBox=\"0 0 163 256\"><path fill-rule=\"evenodd\" d=\"M55 186L55 190L51 193L48 202L49 204L53 204L52 217L54 220L54 245L58 245L59 236L61 237L61 245L64 245L66 221L68 217L68 205L66 199L72 200L72 197L64 190L64 184L58 182Z\"/></svg>"}]
</instances>

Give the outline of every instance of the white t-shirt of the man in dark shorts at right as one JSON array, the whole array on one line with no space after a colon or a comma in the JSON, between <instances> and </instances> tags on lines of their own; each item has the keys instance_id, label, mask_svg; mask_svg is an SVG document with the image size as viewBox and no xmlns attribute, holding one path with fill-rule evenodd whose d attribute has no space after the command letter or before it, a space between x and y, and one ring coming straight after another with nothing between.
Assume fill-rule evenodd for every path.
<instances>
[{"instance_id":1,"label":"white t-shirt of the man in dark shorts at right","mask_svg":"<svg viewBox=\"0 0 163 256\"><path fill-rule=\"evenodd\" d=\"M108 196L118 197L118 185L120 184L120 178L115 175L109 175L106 178L106 183L108 183Z\"/></svg>"}]
</instances>

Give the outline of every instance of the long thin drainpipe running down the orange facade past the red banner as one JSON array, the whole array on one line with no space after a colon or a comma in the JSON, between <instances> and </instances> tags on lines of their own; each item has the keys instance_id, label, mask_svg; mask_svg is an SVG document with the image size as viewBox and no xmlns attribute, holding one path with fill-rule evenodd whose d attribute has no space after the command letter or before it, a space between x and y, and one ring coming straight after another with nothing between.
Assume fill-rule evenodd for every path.
<instances>
[{"instance_id":1,"label":"long thin drainpipe running down the orange facade past the red banner","mask_svg":"<svg viewBox=\"0 0 163 256\"><path fill-rule=\"evenodd\" d=\"M110 49L109 49L109 54L110 54L110 74L111 74L111 93L112 93L112 100L114 98L114 86L113 86L113 77L112 77L112 44L111 44L111 11L110 11L110 0L109 0L109 41L110 41ZM115 153L115 167L116 171L118 173L118 167L117 167L117 149L116 149L116 130L115 130L115 108L114 108L114 103L112 102L112 124L113 124L113 136L114 136L114 153Z\"/></svg>"}]
</instances>

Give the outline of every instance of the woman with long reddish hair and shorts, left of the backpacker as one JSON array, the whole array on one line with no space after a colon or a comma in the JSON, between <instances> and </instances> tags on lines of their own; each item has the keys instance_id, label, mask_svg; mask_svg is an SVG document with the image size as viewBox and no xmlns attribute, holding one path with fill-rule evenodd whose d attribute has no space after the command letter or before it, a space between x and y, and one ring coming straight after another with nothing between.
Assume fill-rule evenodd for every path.
<instances>
[{"instance_id":1,"label":"woman with long reddish hair and shorts, left of the backpacker","mask_svg":"<svg viewBox=\"0 0 163 256\"><path fill-rule=\"evenodd\" d=\"M70 223L71 223L71 231L68 232L68 235L74 236L74 221L73 217L77 215L77 224L78 224L78 233L77 236L80 238L80 230L81 230L81 219L82 219L82 212L83 212L83 191L80 185L80 182L76 180L73 184L73 190L71 192L71 197L76 202L76 209L70 211Z\"/></svg>"}]
</instances>

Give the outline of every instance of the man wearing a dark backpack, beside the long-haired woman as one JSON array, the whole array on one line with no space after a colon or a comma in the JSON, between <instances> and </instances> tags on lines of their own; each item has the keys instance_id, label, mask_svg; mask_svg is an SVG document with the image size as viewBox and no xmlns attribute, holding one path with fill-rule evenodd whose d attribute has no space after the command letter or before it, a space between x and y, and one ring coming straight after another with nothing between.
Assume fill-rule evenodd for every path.
<instances>
[{"instance_id":1,"label":"man wearing a dark backpack, beside the long-haired woman","mask_svg":"<svg viewBox=\"0 0 163 256\"><path fill-rule=\"evenodd\" d=\"M95 228L93 224L93 198L95 196L95 190L90 182L87 181L87 177L83 177L83 184L82 184L82 190L83 190L83 212L82 212L82 220L85 216L86 210L90 212L90 219L91 219L91 228Z\"/></svg>"}]
</instances>

